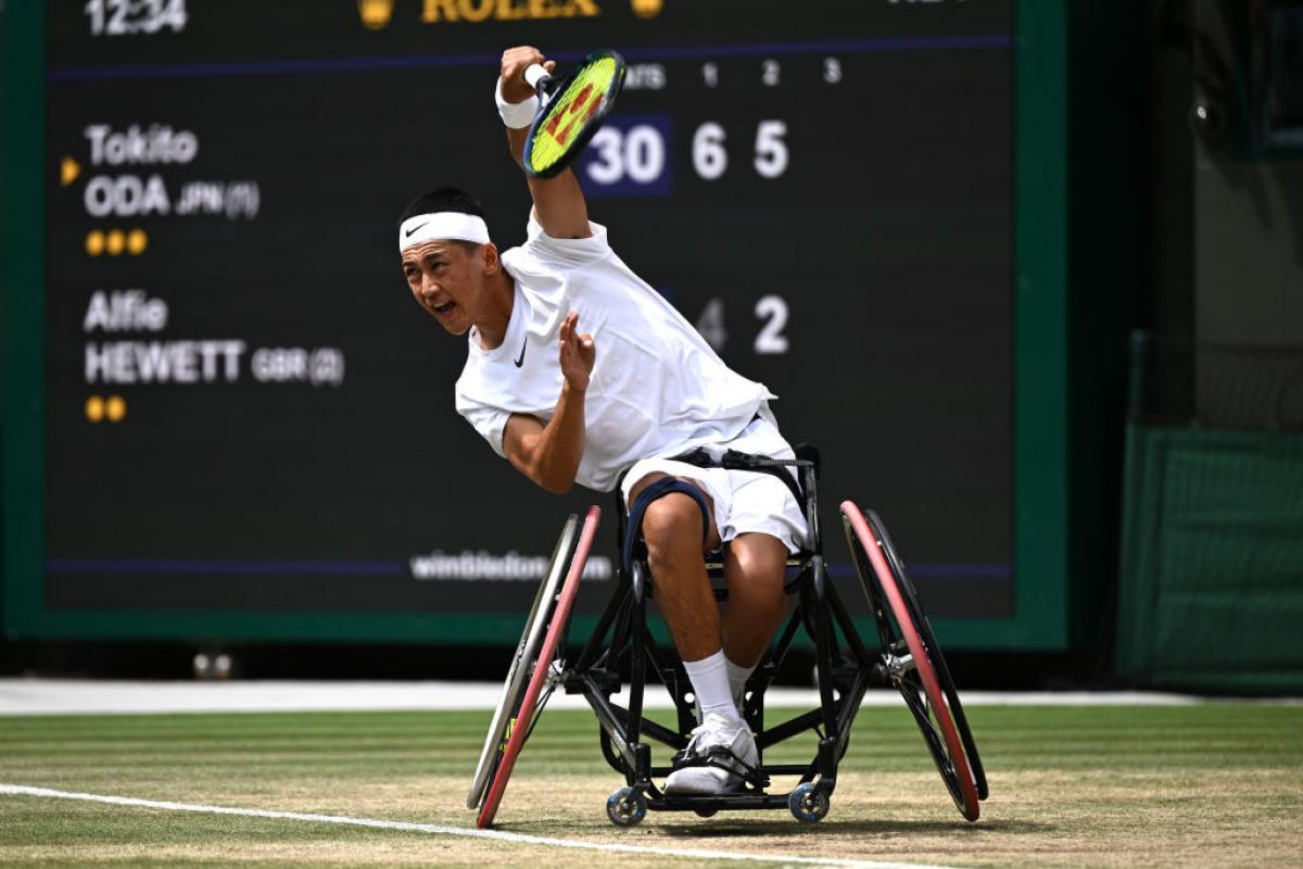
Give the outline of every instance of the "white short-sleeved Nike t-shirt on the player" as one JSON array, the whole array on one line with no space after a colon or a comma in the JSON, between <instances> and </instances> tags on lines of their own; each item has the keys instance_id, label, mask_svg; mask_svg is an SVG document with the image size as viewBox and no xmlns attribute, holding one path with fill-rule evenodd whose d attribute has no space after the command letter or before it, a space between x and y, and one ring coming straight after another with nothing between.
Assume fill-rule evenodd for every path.
<instances>
[{"instance_id":1,"label":"white short-sleeved Nike t-shirt on the player","mask_svg":"<svg viewBox=\"0 0 1303 869\"><path fill-rule=\"evenodd\" d=\"M533 219L529 238L502 254L515 278L503 343L486 350L470 330L457 379L457 413L498 455L512 413L545 423L562 391L562 321L579 314L597 360L584 401L585 443L576 482L611 491L640 459L674 456L741 433L767 399L762 383L732 371L701 335L625 266L589 224L588 238L552 238Z\"/></svg>"}]
</instances>

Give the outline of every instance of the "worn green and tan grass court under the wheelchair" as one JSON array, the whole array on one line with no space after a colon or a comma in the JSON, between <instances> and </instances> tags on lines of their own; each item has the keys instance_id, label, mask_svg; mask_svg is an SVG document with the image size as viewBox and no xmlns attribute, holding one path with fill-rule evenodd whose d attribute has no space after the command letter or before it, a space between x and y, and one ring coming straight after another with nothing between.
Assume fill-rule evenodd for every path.
<instances>
[{"instance_id":1,"label":"worn green and tan grass court under the wheelchair","mask_svg":"<svg viewBox=\"0 0 1303 869\"><path fill-rule=\"evenodd\" d=\"M588 711L545 711L498 812L534 836L752 857L952 866L1303 865L1303 706L977 706L992 796L955 810L903 705L864 709L827 818L649 812L620 830ZM663 713L662 713L663 714ZM472 829L490 714L294 713L0 718L0 786ZM653 715L654 717L654 715ZM778 720L773 717L771 720ZM813 737L810 737L813 739ZM800 762L790 744L767 757ZM775 786L790 787L786 780ZM0 793L0 864L42 866L765 865L602 853Z\"/></svg>"}]
</instances>

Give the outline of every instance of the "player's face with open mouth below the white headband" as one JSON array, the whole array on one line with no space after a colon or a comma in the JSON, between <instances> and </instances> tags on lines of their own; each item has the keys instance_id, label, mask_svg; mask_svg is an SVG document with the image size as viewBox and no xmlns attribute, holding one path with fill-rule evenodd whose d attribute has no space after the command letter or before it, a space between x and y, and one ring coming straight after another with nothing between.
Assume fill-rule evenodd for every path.
<instances>
[{"instance_id":1,"label":"player's face with open mouth below the white headband","mask_svg":"<svg viewBox=\"0 0 1303 869\"><path fill-rule=\"evenodd\" d=\"M443 328L465 335L485 291L481 250L455 241L427 241L403 251L403 276L417 304Z\"/></svg>"}]
</instances>

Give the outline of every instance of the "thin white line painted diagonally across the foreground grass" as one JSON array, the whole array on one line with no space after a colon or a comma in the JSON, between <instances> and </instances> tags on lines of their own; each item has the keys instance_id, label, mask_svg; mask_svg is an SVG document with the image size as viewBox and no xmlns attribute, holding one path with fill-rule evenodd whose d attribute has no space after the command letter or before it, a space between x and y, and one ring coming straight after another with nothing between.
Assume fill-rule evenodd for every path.
<instances>
[{"instance_id":1,"label":"thin white line painted diagonally across the foreground grass","mask_svg":"<svg viewBox=\"0 0 1303 869\"><path fill-rule=\"evenodd\" d=\"M13 796L40 796L59 800L82 800L86 803L108 803L111 805L129 805L141 809L164 809L168 812L198 812L202 814L235 814L244 818L278 818L285 821L308 821L313 823L339 823L353 827L378 827L382 830L405 830L408 833L429 833L442 836L465 836L468 839L495 839L498 842L515 842L519 844L538 844L552 848L573 848L579 851L606 851L618 853L644 853L661 857L685 857L691 860L734 860L745 862L784 862L813 866L851 866L853 869L949 869L923 862L883 862L878 860L840 860L837 857L805 857L796 855L758 855L741 851L696 851L692 848L653 848L650 846L619 844L612 842L579 842L572 839L552 839L550 836L532 836L524 833L506 833L503 830L472 830L468 827L450 827L438 823L412 823L408 821L379 821L375 818L349 818L337 814L305 814L301 812L268 812L265 809L237 809L223 805L202 805L197 803L164 803L158 800L138 800L129 796L104 796L99 793L74 793L70 791L53 791L44 787L26 787L23 784L0 784L0 795Z\"/></svg>"}]
</instances>

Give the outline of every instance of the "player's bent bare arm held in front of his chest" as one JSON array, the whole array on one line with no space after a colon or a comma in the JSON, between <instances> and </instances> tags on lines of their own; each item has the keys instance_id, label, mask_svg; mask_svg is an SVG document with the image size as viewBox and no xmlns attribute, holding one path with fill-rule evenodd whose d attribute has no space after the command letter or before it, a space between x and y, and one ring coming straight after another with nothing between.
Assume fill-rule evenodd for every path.
<instances>
[{"instance_id":1,"label":"player's bent bare arm held in front of his chest","mask_svg":"<svg viewBox=\"0 0 1303 869\"><path fill-rule=\"evenodd\" d=\"M584 396L597 360L592 335L579 334L579 314L562 323L562 395L556 413L545 426L536 417L513 413L502 435L507 459L523 474L547 491L564 495L575 486L584 457Z\"/></svg>"}]
</instances>

